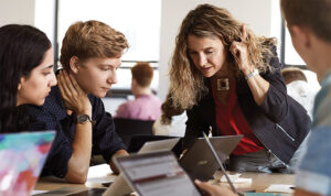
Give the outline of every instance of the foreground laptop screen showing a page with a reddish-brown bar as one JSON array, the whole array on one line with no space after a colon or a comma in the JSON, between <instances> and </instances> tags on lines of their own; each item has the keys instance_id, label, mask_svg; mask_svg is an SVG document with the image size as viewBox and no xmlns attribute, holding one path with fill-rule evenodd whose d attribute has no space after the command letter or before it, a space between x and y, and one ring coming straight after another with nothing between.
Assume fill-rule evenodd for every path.
<instances>
[{"instance_id":1,"label":"foreground laptop screen showing a page with a reddish-brown bar","mask_svg":"<svg viewBox=\"0 0 331 196\"><path fill-rule=\"evenodd\" d=\"M139 195L201 195L170 151L118 156L114 163Z\"/></svg>"}]
</instances>

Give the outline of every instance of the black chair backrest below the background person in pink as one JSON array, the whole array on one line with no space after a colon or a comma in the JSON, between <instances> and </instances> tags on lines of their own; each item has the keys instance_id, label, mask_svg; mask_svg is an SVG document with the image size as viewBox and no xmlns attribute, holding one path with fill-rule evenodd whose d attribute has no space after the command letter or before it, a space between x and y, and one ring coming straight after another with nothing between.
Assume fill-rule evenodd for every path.
<instances>
[{"instance_id":1,"label":"black chair backrest below the background person in pink","mask_svg":"<svg viewBox=\"0 0 331 196\"><path fill-rule=\"evenodd\" d=\"M152 135L153 120L115 118L115 130L124 144L129 146L132 135Z\"/></svg>"}]
</instances>

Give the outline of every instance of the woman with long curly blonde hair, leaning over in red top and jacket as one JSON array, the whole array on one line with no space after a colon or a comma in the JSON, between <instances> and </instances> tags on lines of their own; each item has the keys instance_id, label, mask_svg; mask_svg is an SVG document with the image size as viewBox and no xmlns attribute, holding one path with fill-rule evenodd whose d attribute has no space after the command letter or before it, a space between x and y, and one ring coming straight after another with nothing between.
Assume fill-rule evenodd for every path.
<instances>
[{"instance_id":1,"label":"woman with long curly blonde hair, leaning over in red top and jacket","mask_svg":"<svg viewBox=\"0 0 331 196\"><path fill-rule=\"evenodd\" d=\"M243 134L231 170L287 171L309 117L287 96L275 43L225 9L201 4L189 12L175 40L166 100L188 112L185 148L211 129L213 135Z\"/></svg>"}]
</instances>

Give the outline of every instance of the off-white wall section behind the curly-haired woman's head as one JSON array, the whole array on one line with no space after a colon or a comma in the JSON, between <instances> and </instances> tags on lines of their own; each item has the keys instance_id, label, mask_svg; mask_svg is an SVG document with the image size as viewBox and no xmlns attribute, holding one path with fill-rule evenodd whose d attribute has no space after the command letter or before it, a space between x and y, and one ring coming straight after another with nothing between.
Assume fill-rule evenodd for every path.
<instances>
[{"instance_id":1,"label":"off-white wall section behind the curly-haired woman's head","mask_svg":"<svg viewBox=\"0 0 331 196\"><path fill-rule=\"evenodd\" d=\"M169 87L169 62L174 48L174 39L186 13L196 4L211 3L226 8L236 19L246 23L258 35L271 33L271 7L274 0L163 0L161 13L161 50L158 96L164 100Z\"/></svg>"}]
</instances>

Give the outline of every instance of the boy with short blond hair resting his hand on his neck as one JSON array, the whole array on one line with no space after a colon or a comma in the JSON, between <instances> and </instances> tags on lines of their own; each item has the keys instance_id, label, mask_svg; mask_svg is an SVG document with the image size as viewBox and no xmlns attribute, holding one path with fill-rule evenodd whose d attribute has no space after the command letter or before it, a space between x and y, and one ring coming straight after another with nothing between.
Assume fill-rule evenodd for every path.
<instances>
[{"instance_id":1,"label":"boy with short blond hair resting his hand on his neck","mask_svg":"<svg viewBox=\"0 0 331 196\"><path fill-rule=\"evenodd\" d=\"M90 155L102 153L110 164L114 155L126 155L102 97L117 83L116 69L128 47L125 35L98 21L76 22L62 43L58 85L42 107L29 107L32 130L56 130L44 175L85 183Z\"/></svg>"}]
</instances>

